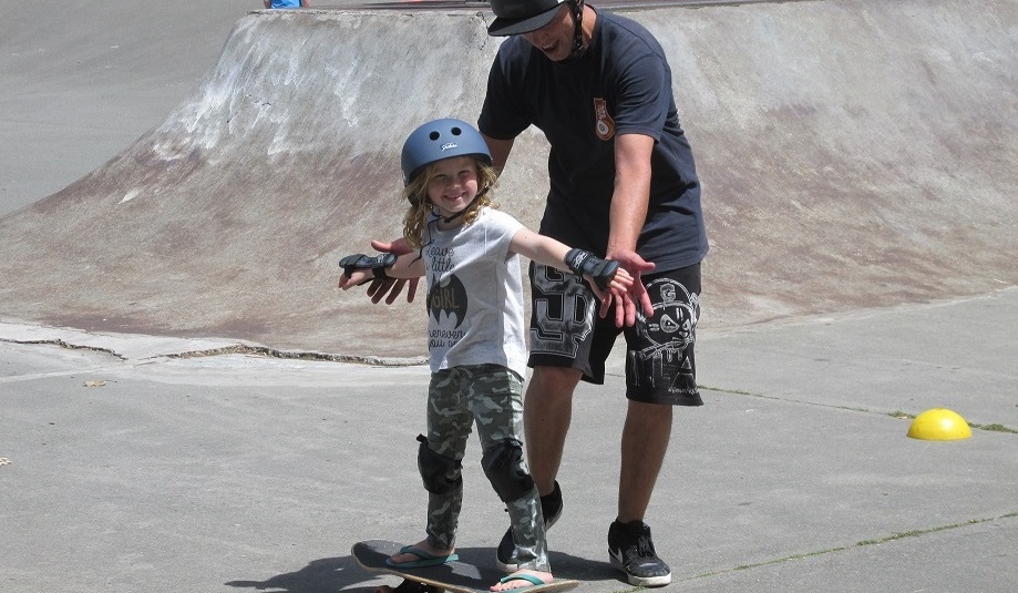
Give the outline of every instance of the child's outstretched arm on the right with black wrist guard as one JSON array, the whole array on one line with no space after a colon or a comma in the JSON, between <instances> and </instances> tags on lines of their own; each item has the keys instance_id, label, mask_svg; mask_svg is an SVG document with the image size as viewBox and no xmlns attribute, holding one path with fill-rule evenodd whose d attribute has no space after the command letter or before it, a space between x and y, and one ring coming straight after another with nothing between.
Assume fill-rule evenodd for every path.
<instances>
[{"instance_id":1,"label":"child's outstretched arm on the right with black wrist guard","mask_svg":"<svg viewBox=\"0 0 1018 593\"><path fill-rule=\"evenodd\" d=\"M633 277L618 262L603 259L590 252L569 248L562 242L534 233L528 228L520 229L510 248L534 262L555 267L563 272L582 274L590 284L597 298L601 300L600 315L604 317L611 303L616 308L623 307ZM616 311L616 325L620 326L621 317Z\"/></svg>"}]
</instances>

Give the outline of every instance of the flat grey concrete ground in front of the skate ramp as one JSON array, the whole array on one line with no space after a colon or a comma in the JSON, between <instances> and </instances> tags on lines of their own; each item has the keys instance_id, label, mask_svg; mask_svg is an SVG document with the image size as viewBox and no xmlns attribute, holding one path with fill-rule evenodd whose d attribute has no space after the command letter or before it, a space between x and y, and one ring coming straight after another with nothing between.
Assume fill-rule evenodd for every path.
<instances>
[{"instance_id":1,"label":"flat grey concrete ground in front of the skate ramp","mask_svg":"<svg viewBox=\"0 0 1018 593\"><path fill-rule=\"evenodd\" d=\"M647 517L668 589L1008 591L1015 319L1008 290L702 336L707 405L678 410ZM9 324L0 339L6 592L367 593L393 581L358 570L353 542L422 535L423 367ZM621 389L618 362L580 387L559 477L553 568L583 591L630 589L605 543ZM984 428L907 438L904 416L934 407ZM479 461L472 441L460 554L491 562L505 514Z\"/></svg>"}]
</instances>

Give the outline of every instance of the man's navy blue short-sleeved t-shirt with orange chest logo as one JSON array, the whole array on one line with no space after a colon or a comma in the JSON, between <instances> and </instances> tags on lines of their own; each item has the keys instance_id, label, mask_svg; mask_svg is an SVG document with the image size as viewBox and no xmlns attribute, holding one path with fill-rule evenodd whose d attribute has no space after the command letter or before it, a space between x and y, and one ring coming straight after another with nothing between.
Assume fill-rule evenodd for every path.
<instances>
[{"instance_id":1,"label":"man's navy blue short-sleeved t-shirt with orange chest logo","mask_svg":"<svg viewBox=\"0 0 1018 593\"><path fill-rule=\"evenodd\" d=\"M657 40L630 19L597 13L583 57L553 62L522 37L498 49L477 127L501 140L529 125L552 145L541 233L604 254L615 184L615 137L654 137L650 204L637 252L667 272L700 262L707 233L692 151Z\"/></svg>"}]
</instances>

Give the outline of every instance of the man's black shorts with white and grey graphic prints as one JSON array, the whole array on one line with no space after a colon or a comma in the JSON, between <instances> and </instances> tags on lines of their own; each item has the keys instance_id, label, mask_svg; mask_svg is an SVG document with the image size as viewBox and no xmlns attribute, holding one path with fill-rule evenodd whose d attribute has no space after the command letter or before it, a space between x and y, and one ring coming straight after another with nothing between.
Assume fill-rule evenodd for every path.
<instances>
[{"instance_id":1,"label":"man's black shorts with white and grey graphic prints","mask_svg":"<svg viewBox=\"0 0 1018 593\"><path fill-rule=\"evenodd\" d=\"M654 316L634 327L601 319L598 300L579 276L531 263L531 367L568 367L605 382L605 360L626 335L626 397L649 403L702 406L693 347L700 318L700 264L641 276Z\"/></svg>"}]
</instances>

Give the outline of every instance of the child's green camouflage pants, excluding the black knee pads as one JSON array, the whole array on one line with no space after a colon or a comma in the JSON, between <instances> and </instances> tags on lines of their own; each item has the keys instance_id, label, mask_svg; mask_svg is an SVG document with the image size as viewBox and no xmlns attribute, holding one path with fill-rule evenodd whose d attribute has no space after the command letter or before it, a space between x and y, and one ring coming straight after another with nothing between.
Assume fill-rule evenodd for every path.
<instances>
[{"instance_id":1,"label":"child's green camouflage pants, excluding the black knee pads","mask_svg":"<svg viewBox=\"0 0 1018 593\"><path fill-rule=\"evenodd\" d=\"M428 443L436 453L461 461L476 423L484 451L506 439L523 441L523 381L498 365L471 365L431 375L428 387ZM523 468L526 470L526 468ZM460 470L456 469L456 472ZM459 476L450 476L456 480ZM450 494L429 493L428 541L439 549L455 543L462 483ZM551 571L537 487L506 503L521 569Z\"/></svg>"}]
</instances>

